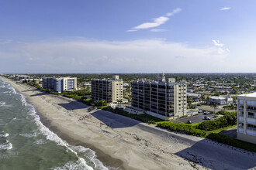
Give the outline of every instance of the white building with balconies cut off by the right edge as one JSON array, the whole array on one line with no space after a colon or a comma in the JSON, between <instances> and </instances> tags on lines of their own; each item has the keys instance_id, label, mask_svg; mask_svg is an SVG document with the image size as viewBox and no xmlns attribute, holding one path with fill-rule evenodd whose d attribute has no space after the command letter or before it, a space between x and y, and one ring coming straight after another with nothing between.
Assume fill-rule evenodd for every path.
<instances>
[{"instance_id":1,"label":"white building with balconies cut off by the right edge","mask_svg":"<svg viewBox=\"0 0 256 170\"><path fill-rule=\"evenodd\" d=\"M237 96L237 139L256 144L256 93Z\"/></svg>"}]
</instances>

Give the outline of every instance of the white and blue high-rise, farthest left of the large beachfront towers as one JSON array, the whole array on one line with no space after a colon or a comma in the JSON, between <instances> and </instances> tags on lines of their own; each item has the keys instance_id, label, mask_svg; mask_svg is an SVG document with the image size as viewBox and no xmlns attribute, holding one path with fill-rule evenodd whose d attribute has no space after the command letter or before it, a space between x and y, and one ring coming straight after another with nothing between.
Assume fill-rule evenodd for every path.
<instances>
[{"instance_id":1,"label":"white and blue high-rise, farthest left of the large beachfront towers","mask_svg":"<svg viewBox=\"0 0 256 170\"><path fill-rule=\"evenodd\" d=\"M50 89L52 91L62 93L64 91L77 90L77 78L76 77L45 77L43 78L43 88Z\"/></svg>"}]
</instances>

